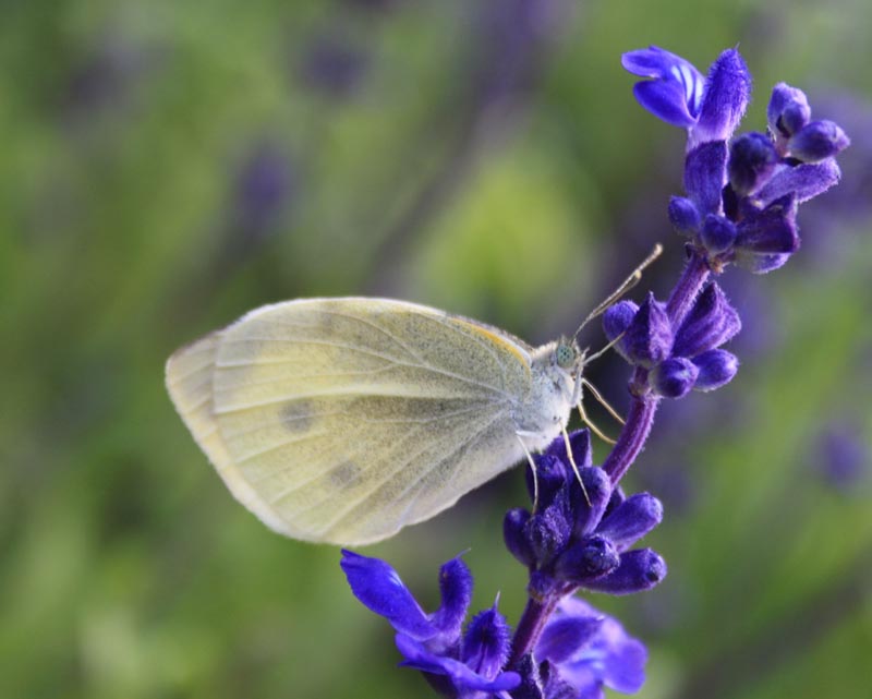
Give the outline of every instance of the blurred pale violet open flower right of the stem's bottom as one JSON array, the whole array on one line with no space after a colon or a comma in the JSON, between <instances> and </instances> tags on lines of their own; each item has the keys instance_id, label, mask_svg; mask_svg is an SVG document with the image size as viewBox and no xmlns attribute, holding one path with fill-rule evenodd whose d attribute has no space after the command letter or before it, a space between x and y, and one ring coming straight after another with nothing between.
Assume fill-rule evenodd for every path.
<instances>
[{"instance_id":1,"label":"blurred pale violet open flower right of the stem's bottom","mask_svg":"<svg viewBox=\"0 0 872 699\"><path fill-rule=\"evenodd\" d=\"M601 699L604 687L633 694L645 680L645 647L628 636L616 619L577 598L560 602L534 655L552 667L545 697ZM572 694L559 695L558 688L567 685Z\"/></svg>"}]
</instances>

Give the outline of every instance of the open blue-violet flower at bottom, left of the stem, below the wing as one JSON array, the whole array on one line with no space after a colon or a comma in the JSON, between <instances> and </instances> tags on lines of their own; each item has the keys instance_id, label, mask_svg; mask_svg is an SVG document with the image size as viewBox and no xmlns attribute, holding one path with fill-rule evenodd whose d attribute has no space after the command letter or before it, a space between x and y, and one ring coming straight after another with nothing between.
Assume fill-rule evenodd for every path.
<instances>
[{"instance_id":1,"label":"open blue-violet flower at bottom, left of the stem, below the wing","mask_svg":"<svg viewBox=\"0 0 872 699\"><path fill-rule=\"evenodd\" d=\"M473 580L459 557L439 571L441 604L432 614L421 608L397 571L384 561L342 551L341 566L354 595L398 631L396 643L404 658L400 664L422 671L441 694L473 699L520 684L518 673L502 672L510 635L496 603L476 615L461 634Z\"/></svg>"}]
</instances>

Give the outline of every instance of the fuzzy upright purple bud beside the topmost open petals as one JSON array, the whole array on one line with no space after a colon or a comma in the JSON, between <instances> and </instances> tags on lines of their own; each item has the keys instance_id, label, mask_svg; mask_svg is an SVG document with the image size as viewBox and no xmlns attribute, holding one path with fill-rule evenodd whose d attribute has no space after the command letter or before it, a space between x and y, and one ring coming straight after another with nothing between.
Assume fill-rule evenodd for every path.
<instances>
[{"instance_id":1,"label":"fuzzy upright purple bud beside the topmost open petals","mask_svg":"<svg viewBox=\"0 0 872 699\"><path fill-rule=\"evenodd\" d=\"M736 49L727 49L708 69L700 118L690 131L688 150L710 141L727 141L751 99L751 73Z\"/></svg>"}]
</instances>

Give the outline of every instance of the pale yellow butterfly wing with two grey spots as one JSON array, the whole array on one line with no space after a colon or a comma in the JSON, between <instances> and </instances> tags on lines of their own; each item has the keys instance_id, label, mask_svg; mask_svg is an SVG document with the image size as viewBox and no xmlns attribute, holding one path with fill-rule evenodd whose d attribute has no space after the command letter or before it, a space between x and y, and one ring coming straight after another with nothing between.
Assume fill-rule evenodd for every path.
<instances>
[{"instance_id":1,"label":"pale yellow butterfly wing with two grey spots","mask_svg":"<svg viewBox=\"0 0 872 699\"><path fill-rule=\"evenodd\" d=\"M177 409L233 495L307 541L378 541L518 461L530 348L382 299L264 306L167 363Z\"/></svg>"}]
</instances>

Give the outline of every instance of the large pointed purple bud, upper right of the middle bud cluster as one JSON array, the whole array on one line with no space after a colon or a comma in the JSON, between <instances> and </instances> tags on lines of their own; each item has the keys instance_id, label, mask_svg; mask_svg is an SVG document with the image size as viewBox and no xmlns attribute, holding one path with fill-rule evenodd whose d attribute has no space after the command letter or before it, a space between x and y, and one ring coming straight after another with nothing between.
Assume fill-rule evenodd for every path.
<instances>
[{"instance_id":1,"label":"large pointed purple bud, upper right of the middle bud cluster","mask_svg":"<svg viewBox=\"0 0 872 699\"><path fill-rule=\"evenodd\" d=\"M705 286L676 333L673 352L695 357L731 339L742 327L739 314L716 282Z\"/></svg>"}]
</instances>

